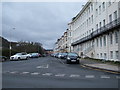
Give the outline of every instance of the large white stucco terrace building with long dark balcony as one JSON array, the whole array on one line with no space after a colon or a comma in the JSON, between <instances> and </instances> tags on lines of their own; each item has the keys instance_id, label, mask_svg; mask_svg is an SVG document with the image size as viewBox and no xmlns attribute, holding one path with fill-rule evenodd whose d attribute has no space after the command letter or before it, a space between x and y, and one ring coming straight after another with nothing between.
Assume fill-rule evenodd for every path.
<instances>
[{"instance_id":1,"label":"large white stucco terrace building with long dark balcony","mask_svg":"<svg viewBox=\"0 0 120 90\"><path fill-rule=\"evenodd\" d=\"M69 27L74 52L96 59L120 60L119 0L89 0Z\"/></svg>"}]
</instances>

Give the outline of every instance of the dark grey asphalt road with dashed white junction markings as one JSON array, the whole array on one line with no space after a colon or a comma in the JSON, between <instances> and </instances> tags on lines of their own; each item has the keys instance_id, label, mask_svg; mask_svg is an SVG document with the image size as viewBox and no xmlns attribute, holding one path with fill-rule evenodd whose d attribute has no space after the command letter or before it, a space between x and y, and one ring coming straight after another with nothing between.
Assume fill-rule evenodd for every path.
<instances>
[{"instance_id":1,"label":"dark grey asphalt road with dashed white junction markings","mask_svg":"<svg viewBox=\"0 0 120 90\"><path fill-rule=\"evenodd\" d=\"M118 75L54 57L3 62L3 88L118 88Z\"/></svg>"}]
</instances>

